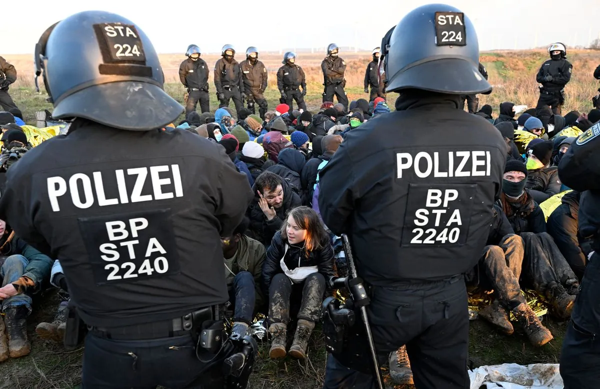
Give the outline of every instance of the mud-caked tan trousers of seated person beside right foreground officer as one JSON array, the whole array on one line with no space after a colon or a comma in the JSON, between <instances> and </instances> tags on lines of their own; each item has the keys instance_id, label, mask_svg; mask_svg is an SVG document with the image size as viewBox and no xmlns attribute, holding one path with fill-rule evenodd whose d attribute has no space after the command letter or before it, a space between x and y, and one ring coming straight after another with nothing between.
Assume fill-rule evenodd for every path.
<instances>
[{"instance_id":1,"label":"mud-caked tan trousers of seated person beside right foreground officer","mask_svg":"<svg viewBox=\"0 0 600 389\"><path fill-rule=\"evenodd\" d=\"M517 278L523 266L523 253L523 239L511 234L505 236L497 246L486 246L478 264L481 277L479 286L494 290L500 303L511 310L526 302Z\"/></svg>"}]
</instances>

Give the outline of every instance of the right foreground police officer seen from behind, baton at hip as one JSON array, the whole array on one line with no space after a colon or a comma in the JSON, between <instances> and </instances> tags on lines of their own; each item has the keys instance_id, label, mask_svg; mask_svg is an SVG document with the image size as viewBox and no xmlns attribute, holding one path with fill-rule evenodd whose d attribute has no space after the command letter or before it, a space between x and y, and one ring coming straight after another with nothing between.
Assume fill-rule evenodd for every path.
<instances>
[{"instance_id":1,"label":"right foreground police officer seen from behind, baton at hip","mask_svg":"<svg viewBox=\"0 0 600 389\"><path fill-rule=\"evenodd\" d=\"M498 130L460 109L461 95L491 92L478 59L459 10L411 11L386 57L396 111L348 132L320 172L323 222L349 235L380 360L406 345L418 389L469 387L463 274L485 246L506 159ZM329 355L325 388L373 387L356 354L369 355Z\"/></svg>"}]
</instances>

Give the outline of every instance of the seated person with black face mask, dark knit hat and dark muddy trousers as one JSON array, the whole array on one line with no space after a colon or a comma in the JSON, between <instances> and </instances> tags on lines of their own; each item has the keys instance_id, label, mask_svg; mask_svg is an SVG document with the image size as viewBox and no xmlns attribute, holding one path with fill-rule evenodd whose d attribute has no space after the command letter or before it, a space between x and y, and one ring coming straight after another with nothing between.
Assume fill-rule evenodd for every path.
<instances>
[{"instance_id":1,"label":"seated person with black face mask, dark knit hat and dark muddy trousers","mask_svg":"<svg viewBox=\"0 0 600 389\"><path fill-rule=\"evenodd\" d=\"M544 213L525 189L526 183L527 168L523 162L506 162L500 206L512 230L523 238L523 281L545 295L560 318L568 318L579 282L546 232ZM517 279L521 279L521 269L516 271Z\"/></svg>"}]
</instances>

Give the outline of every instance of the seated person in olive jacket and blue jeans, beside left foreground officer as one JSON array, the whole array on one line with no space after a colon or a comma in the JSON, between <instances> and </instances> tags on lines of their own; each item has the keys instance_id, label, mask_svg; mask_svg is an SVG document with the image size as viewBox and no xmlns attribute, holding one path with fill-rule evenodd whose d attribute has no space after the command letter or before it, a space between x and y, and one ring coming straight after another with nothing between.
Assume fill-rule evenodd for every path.
<instances>
[{"instance_id":1,"label":"seated person in olive jacket and blue jeans, beside left foreground officer","mask_svg":"<svg viewBox=\"0 0 600 389\"><path fill-rule=\"evenodd\" d=\"M244 235L248 224L250 221L244 218L232 236L221 237L225 279L234 309L232 334L241 337L252 324L255 307L263 303L262 266L266 255L262 243Z\"/></svg>"}]
</instances>

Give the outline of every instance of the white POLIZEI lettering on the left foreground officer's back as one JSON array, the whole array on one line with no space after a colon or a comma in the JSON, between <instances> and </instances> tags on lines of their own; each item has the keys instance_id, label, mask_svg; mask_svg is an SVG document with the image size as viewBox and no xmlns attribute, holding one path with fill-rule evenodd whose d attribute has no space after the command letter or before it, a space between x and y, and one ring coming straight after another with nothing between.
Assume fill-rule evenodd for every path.
<instances>
[{"instance_id":1,"label":"white POLIZEI lettering on the left foreground officer's back","mask_svg":"<svg viewBox=\"0 0 600 389\"><path fill-rule=\"evenodd\" d=\"M133 185L126 185L125 181ZM109 180L112 182L109 183ZM149 181L151 190L143 191ZM106 186L114 186L115 194L108 195ZM116 204L139 203L142 201L164 200L184 195L179 165L158 165L118 169L110 173L94 171L91 174L76 173L71 177L47 178L47 190L53 212L59 212L59 200L70 198L79 209L97 205L100 207ZM63 200L64 201L64 200Z\"/></svg>"}]
</instances>

